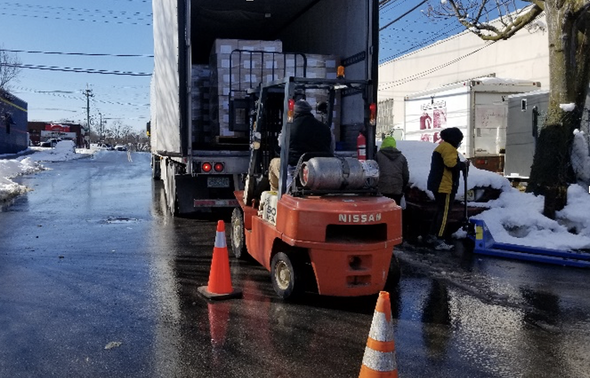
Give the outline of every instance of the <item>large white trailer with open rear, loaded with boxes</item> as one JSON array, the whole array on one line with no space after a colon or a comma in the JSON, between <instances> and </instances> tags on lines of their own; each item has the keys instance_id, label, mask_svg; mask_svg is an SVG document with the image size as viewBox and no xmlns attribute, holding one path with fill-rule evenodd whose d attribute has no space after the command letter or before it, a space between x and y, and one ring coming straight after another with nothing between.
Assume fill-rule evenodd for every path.
<instances>
[{"instance_id":1,"label":"large white trailer with open rear, loaded with boxes","mask_svg":"<svg viewBox=\"0 0 590 378\"><path fill-rule=\"evenodd\" d=\"M248 91L288 77L376 82L377 0L153 0L154 71L149 134L154 178L174 214L237 205L250 160L255 104ZM323 102L313 89L310 104ZM339 150L356 138L376 85L342 91L331 127ZM342 152L342 151L341 151ZM371 157L368 157L371 158Z\"/></svg>"}]
</instances>

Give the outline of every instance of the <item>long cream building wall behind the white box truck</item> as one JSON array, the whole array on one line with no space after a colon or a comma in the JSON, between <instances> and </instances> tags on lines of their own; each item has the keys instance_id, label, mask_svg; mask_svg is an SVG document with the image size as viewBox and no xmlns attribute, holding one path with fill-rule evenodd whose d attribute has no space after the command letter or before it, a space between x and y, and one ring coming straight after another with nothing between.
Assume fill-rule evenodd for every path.
<instances>
[{"instance_id":1,"label":"long cream building wall behind the white box truck","mask_svg":"<svg viewBox=\"0 0 590 378\"><path fill-rule=\"evenodd\" d=\"M537 25L546 25L545 17ZM548 88L546 29L522 29L510 39L495 43L466 31L381 64L378 101L393 100L394 105L393 115L388 114L392 123L378 121L377 134L404 128L406 95L487 75L539 81L541 88Z\"/></svg>"}]
</instances>

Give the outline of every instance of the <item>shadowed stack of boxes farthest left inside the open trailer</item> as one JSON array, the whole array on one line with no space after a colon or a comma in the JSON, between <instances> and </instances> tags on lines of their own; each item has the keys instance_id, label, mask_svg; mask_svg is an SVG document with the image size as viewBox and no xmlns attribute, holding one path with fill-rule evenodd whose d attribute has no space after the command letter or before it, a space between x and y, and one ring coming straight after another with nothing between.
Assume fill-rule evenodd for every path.
<instances>
[{"instance_id":1,"label":"shadowed stack of boxes farthest left inside the open trailer","mask_svg":"<svg viewBox=\"0 0 590 378\"><path fill-rule=\"evenodd\" d=\"M206 64L191 67L192 143L210 143L215 137L209 122L211 70Z\"/></svg>"}]
</instances>

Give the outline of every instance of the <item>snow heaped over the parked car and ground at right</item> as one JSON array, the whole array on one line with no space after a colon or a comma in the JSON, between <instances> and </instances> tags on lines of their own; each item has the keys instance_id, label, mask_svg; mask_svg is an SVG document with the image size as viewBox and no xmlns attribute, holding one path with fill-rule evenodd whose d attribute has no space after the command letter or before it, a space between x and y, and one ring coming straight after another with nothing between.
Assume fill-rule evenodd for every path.
<instances>
[{"instance_id":1,"label":"snow heaped over the parked car and ground at right","mask_svg":"<svg viewBox=\"0 0 590 378\"><path fill-rule=\"evenodd\" d=\"M430 198L434 198L427 190L426 182L436 144L398 141L397 147L408 160L412 187L418 187ZM586 166L585 170L590 171L590 167ZM485 221L497 242L559 250L590 248L590 194L587 187L571 185L568 188L568 204L556 214L556 220L550 220L542 214L543 196L521 193L512 188L509 181L501 175L471 165L467 180L468 190L487 185L501 189L500 198L487 204L470 202L468 205L489 207L489 210L473 218ZM463 196L461 184L457 198L462 199ZM465 237L465 233L458 231L455 236Z\"/></svg>"}]
</instances>

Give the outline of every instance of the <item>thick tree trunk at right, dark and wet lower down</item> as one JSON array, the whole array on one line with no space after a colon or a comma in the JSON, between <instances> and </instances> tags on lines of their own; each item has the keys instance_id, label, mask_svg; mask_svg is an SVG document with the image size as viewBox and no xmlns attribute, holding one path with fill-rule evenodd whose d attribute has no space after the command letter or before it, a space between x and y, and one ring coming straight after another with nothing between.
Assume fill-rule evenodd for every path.
<instances>
[{"instance_id":1,"label":"thick tree trunk at right, dark and wet lower down","mask_svg":"<svg viewBox=\"0 0 590 378\"><path fill-rule=\"evenodd\" d=\"M545 195L545 211L566 204L566 188L575 181L571 167L573 130L580 127L590 84L588 54L590 21L587 6L576 1L546 0L549 29L549 108L545 126L539 132L527 191ZM575 104L564 111L560 104Z\"/></svg>"}]
</instances>

